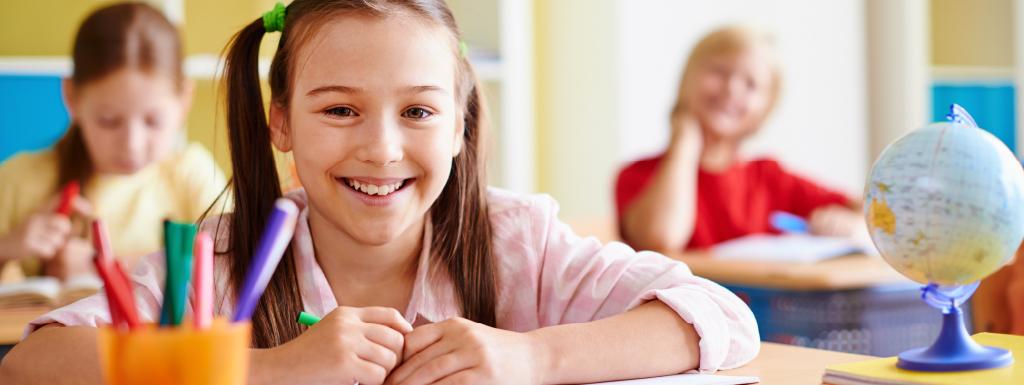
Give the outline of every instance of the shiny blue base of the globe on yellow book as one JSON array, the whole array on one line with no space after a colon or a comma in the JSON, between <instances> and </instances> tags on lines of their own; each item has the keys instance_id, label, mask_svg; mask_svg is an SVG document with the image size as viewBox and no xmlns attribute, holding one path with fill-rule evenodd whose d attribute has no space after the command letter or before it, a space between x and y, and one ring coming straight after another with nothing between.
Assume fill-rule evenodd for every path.
<instances>
[{"instance_id":1,"label":"shiny blue base of the globe on yellow book","mask_svg":"<svg viewBox=\"0 0 1024 385\"><path fill-rule=\"evenodd\" d=\"M1009 350L974 342L964 327L964 313L958 306L951 306L942 314L942 330L935 343L900 353L896 367L918 372L961 372L1001 368L1013 362Z\"/></svg>"}]
</instances>

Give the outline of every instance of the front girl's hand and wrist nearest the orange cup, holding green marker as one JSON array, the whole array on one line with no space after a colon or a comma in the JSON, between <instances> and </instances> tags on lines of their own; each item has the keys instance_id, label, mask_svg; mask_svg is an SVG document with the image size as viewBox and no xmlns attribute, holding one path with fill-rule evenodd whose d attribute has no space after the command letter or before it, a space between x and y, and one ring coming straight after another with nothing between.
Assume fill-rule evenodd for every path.
<instances>
[{"instance_id":1,"label":"front girl's hand and wrist nearest the orange cup, holding green marker","mask_svg":"<svg viewBox=\"0 0 1024 385\"><path fill-rule=\"evenodd\" d=\"M390 307L338 307L296 339L253 355L268 384L380 385L401 359L413 327Z\"/></svg>"}]
</instances>

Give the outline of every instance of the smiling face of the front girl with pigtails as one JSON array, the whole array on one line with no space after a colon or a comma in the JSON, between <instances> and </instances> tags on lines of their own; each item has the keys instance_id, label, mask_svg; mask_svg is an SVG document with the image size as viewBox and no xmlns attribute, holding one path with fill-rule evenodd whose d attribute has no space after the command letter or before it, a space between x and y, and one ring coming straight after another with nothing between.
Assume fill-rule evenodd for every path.
<instances>
[{"instance_id":1,"label":"smiling face of the front girl with pigtails","mask_svg":"<svg viewBox=\"0 0 1024 385\"><path fill-rule=\"evenodd\" d=\"M326 220L364 245L422 226L462 145L451 38L412 17L343 15L296 51L291 102L270 109Z\"/></svg>"}]
</instances>

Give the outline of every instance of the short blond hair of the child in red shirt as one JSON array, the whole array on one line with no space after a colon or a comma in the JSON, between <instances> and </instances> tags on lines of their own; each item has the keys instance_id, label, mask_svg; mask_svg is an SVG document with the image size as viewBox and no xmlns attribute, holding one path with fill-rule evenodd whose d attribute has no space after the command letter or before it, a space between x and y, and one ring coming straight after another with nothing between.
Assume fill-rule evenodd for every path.
<instances>
[{"instance_id":1,"label":"short blond hair of the child in red shirt","mask_svg":"<svg viewBox=\"0 0 1024 385\"><path fill-rule=\"evenodd\" d=\"M686 67L683 68L683 75L679 80L679 90L676 96L676 104L672 109L672 121L687 113L686 98L684 93L693 86L696 70L709 58L719 55L735 55L754 47L764 47L773 49L775 39L767 32L745 26L727 26L713 31L697 42L686 59ZM771 66L772 82L769 93L771 100L761 119L767 118L778 100L781 89L782 73L775 57L769 57Z\"/></svg>"}]
</instances>

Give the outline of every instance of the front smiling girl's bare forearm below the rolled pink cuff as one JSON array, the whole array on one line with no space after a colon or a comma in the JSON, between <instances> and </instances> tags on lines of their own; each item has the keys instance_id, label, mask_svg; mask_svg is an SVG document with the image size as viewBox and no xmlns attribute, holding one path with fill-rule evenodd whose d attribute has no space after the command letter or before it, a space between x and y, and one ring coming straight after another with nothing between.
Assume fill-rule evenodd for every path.
<instances>
[{"instance_id":1,"label":"front smiling girl's bare forearm below the rolled pink cuff","mask_svg":"<svg viewBox=\"0 0 1024 385\"><path fill-rule=\"evenodd\" d=\"M539 344L544 384L665 376L697 368L699 337L669 306L654 300L586 324L527 333Z\"/></svg>"}]
</instances>

